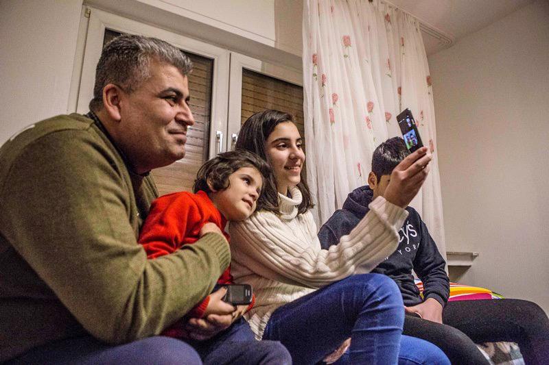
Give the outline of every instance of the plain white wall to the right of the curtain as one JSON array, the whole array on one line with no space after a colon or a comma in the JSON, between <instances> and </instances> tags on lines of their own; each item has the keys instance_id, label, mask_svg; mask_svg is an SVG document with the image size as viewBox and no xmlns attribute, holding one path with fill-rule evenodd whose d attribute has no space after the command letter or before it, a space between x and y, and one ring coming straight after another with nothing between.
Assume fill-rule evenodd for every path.
<instances>
[{"instance_id":1,"label":"plain white wall to the right of the curtain","mask_svg":"<svg viewBox=\"0 0 549 365\"><path fill-rule=\"evenodd\" d=\"M461 281L549 313L549 3L429 58L448 251Z\"/></svg>"}]
</instances>

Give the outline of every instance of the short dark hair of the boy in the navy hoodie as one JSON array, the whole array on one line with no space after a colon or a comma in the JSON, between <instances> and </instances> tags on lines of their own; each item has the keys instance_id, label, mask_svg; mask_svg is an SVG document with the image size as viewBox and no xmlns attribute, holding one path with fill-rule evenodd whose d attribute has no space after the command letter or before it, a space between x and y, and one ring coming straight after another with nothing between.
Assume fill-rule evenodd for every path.
<instances>
[{"instance_id":1,"label":"short dark hair of the boy in the navy hoodie","mask_svg":"<svg viewBox=\"0 0 549 365\"><path fill-rule=\"evenodd\" d=\"M390 175L397 164L399 164L410 151L406 148L406 143L400 137L389 138L382 144L379 144L372 155L372 172L377 181L383 175Z\"/></svg>"}]
</instances>

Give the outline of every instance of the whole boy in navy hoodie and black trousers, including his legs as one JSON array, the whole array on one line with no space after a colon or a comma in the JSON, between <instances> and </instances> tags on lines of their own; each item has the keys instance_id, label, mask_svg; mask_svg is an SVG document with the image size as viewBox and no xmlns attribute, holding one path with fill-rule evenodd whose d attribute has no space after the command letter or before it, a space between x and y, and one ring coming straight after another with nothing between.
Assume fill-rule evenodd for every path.
<instances>
[{"instance_id":1,"label":"whole boy in navy hoodie and black trousers, including his legs","mask_svg":"<svg viewBox=\"0 0 549 365\"><path fill-rule=\"evenodd\" d=\"M320 227L323 249L338 244L369 211L369 203L383 196L393 169L408 155L404 140L390 138L373 152L369 186L353 190ZM406 207L408 218L399 230L399 247L372 273L391 277L400 288L406 318L404 334L440 347L452 364L489 364L474 342L518 342L526 364L548 356L549 320L535 303L518 299L452 301L445 261L418 212ZM412 270L423 281L423 298ZM444 324L443 324L444 323Z\"/></svg>"}]
</instances>

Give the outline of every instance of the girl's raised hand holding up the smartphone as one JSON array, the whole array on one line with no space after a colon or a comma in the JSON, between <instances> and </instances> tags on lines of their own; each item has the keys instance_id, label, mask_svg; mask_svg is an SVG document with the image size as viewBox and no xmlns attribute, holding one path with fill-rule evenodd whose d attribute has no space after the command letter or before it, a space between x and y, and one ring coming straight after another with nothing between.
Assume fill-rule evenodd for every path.
<instances>
[{"instance_id":1,"label":"girl's raised hand holding up the smartphone","mask_svg":"<svg viewBox=\"0 0 549 365\"><path fill-rule=\"evenodd\" d=\"M431 159L432 155L428 153L427 147L421 147L406 156L390 174L384 193L385 199L399 207L407 207L427 178Z\"/></svg>"}]
</instances>

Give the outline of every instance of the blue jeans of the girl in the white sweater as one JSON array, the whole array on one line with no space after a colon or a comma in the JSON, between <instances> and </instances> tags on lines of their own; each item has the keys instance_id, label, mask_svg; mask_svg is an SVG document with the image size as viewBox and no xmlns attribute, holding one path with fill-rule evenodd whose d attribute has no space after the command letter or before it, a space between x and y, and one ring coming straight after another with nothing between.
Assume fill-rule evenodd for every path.
<instances>
[{"instance_id":1,"label":"blue jeans of the girl in the white sweater","mask_svg":"<svg viewBox=\"0 0 549 365\"><path fill-rule=\"evenodd\" d=\"M279 307L263 338L282 342L296 365L321 362L349 337L351 364L449 364L429 342L405 338L401 346L403 324L392 279L353 275Z\"/></svg>"}]
</instances>

